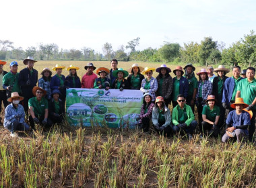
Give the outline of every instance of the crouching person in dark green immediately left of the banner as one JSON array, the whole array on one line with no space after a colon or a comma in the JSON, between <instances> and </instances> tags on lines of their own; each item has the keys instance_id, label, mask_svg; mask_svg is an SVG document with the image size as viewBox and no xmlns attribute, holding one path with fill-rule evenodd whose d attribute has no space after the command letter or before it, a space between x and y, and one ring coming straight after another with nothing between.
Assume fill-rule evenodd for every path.
<instances>
[{"instance_id":1,"label":"crouching person in dark green immediately left of the banner","mask_svg":"<svg viewBox=\"0 0 256 188\"><path fill-rule=\"evenodd\" d=\"M49 115L53 124L60 124L65 117L65 103L59 98L60 95L59 89L53 90L49 101Z\"/></svg>"}]
</instances>

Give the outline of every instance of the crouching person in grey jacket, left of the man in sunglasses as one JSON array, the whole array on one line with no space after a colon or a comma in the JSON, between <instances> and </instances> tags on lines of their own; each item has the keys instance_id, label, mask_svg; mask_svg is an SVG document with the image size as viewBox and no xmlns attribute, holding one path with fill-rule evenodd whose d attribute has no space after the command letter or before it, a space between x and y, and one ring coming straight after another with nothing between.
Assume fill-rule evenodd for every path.
<instances>
[{"instance_id":1,"label":"crouching person in grey jacket, left of the man in sunglasses","mask_svg":"<svg viewBox=\"0 0 256 188\"><path fill-rule=\"evenodd\" d=\"M164 136L170 136L172 132L170 109L166 107L164 98L156 97L156 104L153 108L152 122L158 132Z\"/></svg>"}]
</instances>

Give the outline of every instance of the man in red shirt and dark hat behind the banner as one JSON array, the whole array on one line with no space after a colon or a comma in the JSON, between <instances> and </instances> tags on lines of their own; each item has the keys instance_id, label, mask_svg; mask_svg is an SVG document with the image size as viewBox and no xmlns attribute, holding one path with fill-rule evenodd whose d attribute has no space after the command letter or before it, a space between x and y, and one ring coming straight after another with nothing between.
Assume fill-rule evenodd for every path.
<instances>
[{"instance_id":1,"label":"man in red shirt and dark hat behind the banner","mask_svg":"<svg viewBox=\"0 0 256 188\"><path fill-rule=\"evenodd\" d=\"M94 74L94 70L96 67L92 62L88 62L86 66L84 66L84 69L86 69L87 73L82 77L82 88L94 88L94 81L97 79L97 75Z\"/></svg>"}]
</instances>

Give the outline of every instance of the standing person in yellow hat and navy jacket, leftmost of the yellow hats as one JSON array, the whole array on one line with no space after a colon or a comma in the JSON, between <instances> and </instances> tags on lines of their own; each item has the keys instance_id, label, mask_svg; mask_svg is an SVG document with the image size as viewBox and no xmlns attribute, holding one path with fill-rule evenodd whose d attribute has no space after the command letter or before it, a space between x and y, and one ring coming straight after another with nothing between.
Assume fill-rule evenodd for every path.
<instances>
[{"instance_id":1,"label":"standing person in yellow hat and navy jacket, leftmost of the yellow hats","mask_svg":"<svg viewBox=\"0 0 256 188\"><path fill-rule=\"evenodd\" d=\"M63 101L66 99L65 77L61 75L64 68L65 66L61 66L60 64L56 64L55 67L53 67L53 71L56 71L56 75L53 76L50 83L51 91L54 89L61 91L61 100Z\"/></svg>"}]
</instances>

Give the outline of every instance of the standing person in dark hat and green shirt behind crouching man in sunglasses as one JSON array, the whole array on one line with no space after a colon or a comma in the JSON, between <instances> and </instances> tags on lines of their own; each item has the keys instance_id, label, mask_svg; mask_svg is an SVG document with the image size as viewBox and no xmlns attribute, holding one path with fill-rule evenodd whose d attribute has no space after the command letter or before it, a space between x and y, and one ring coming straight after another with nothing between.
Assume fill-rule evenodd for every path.
<instances>
[{"instance_id":1,"label":"standing person in dark hat and green shirt behind crouching man in sunglasses","mask_svg":"<svg viewBox=\"0 0 256 188\"><path fill-rule=\"evenodd\" d=\"M189 94L186 99L187 105L189 105L193 111L195 112L195 95L197 95L198 89L198 81L195 78L195 67L189 63L184 68L185 75L184 77L189 81Z\"/></svg>"}]
</instances>

